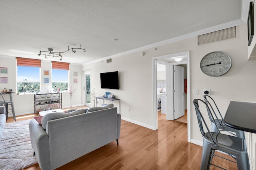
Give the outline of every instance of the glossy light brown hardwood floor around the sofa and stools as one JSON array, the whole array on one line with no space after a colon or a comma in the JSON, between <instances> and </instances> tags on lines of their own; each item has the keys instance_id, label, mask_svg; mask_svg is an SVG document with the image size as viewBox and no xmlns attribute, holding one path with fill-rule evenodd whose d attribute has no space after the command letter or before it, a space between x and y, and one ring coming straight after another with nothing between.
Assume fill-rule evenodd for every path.
<instances>
[{"instance_id":1,"label":"glossy light brown hardwood floor around the sofa and stools","mask_svg":"<svg viewBox=\"0 0 256 170\"><path fill-rule=\"evenodd\" d=\"M32 117L34 114L17 116L17 121ZM9 117L8 122L11 121ZM58 170L199 170L201 156L202 147L187 142L187 124L167 121L165 114L158 111L157 131L122 120L119 146L113 141ZM229 170L237 169L236 164L216 156L213 163ZM211 167L211 170L218 169ZM40 167L34 164L26 170L40 170Z\"/></svg>"}]
</instances>

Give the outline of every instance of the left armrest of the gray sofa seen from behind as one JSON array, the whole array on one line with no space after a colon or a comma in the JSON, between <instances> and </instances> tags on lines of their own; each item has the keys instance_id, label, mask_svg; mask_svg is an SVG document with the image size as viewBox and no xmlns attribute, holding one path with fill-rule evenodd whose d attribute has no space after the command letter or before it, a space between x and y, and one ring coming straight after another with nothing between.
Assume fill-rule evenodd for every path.
<instances>
[{"instance_id":1,"label":"left armrest of the gray sofa seen from behind","mask_svg":"<svg viewBox=\"0 0 256 170\"><path fill-rule=\"evenodd\" d=\"M35 119L32 119L29 123L29 132L32 148L34 149L36 159L40 165L41 170L50 170L50 150L48 135L46 134L44 128Z\"/></svg>"}]
</instances>

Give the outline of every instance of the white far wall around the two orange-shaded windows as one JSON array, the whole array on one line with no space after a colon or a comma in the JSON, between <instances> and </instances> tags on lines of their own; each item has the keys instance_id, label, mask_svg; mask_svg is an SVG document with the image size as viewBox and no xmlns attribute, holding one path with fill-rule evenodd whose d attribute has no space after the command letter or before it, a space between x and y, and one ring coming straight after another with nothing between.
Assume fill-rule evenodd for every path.
<instances>
[{"instance_id":1,"label":"white far wall around the two orange-shaded windows","mask_svg":"<svg viewBox=\"0 0 256 170\"><path fill-rule=\"evenodd\" d=\"M8 74L0 74L0 76L8 76L8 83L0 83L0 89L4 89L5 87L9 89L13 89L16 91L16 59L11 56L2 56L0 55L0 67L8 67ZM41 61L41 82L42 88L45 86L51 86L51 69L52 63L50 61ZM49 70L50 75L45 76L44 70ZM73 72L77 71L78 76L74 77ZM44 83L44 78L49 78L49 83ZM73 86L73 89L76 89L72 96L72 107L74 106L82 106L82 66L79 64L70 64L70 86ZM78 79L78 83L74 83L74 78ZM8 95L4 95L5 98L9 98ZM0 97L0 100L1 97ZM17 115L24 115L29 113L34 113L34 94L23 94L17 95L13 94L14 100L14 110ZM70 107L70 95L68 92L62 93L62 108Z\"/></svg>"}]
</instances>

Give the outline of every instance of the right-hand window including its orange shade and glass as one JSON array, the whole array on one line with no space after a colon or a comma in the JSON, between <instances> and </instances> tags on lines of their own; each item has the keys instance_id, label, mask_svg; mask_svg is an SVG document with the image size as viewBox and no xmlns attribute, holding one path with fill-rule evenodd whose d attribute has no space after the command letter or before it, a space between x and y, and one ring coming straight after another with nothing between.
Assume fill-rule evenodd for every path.
<instances>
[{"instance_id":1,"label":"right-hand window including its orange shade and glass","mask_svg":"<svg viewBox=\"0 0 256 170\"><path fill-rule=\"evenodd\" d=\"M57 91L68 90L69 63L52 61L52 88Z\"/></svg>"}]
</instances>

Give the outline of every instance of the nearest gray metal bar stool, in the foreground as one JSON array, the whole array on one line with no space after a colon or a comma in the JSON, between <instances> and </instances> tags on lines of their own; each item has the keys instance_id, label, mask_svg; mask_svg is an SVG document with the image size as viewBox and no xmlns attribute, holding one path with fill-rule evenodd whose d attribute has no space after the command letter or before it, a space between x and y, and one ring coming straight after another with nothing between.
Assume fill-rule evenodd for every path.
<instances>
[{"instance_id":1,"label":"nearest gray metal bar stool, in the foreground","mask_svg":"<svg viewBox=\"0 0 256 170\"><path fill-rule=\"evenodd\" d=\"M194 99L193 104L196 109L198 125L203 135L203 150L202 150L200 170L210 170L211 165L217 166L212 164L212 158L213 158L212 152L214 152L214 150L220 150L222 152L226 152L228 155L234 158L236 160L238 170L250 170L250 163L249 163L245 140L239 137L222 134L218 129L217 129L218 133L211 132L206 124L206 121L204 120L204 117L202 116L202 113L200 112L199 102L200 102L200 105L203 104L204 106L206 106L207 110L209 109L209 107L203 100ZM210 115L212 117L211 113ZM213 121L215 123L215 120ZM204 131L202 122L204 123L208 132Z\"/></svg>"}]
</instances>

